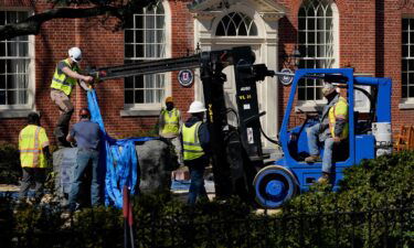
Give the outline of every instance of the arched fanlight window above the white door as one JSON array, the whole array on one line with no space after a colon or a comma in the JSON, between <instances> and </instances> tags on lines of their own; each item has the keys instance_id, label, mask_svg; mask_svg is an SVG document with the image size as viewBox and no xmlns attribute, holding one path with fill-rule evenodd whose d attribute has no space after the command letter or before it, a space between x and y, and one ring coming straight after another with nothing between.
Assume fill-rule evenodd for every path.
<instances>
[{"instance_id":1,"label":"arched fanlight window above the white door","mask_svg":"<svg viewBox=\"0 0 414 248\"><path fill-rule=\"evenodd\" d=\"M255 36L257 28L244 13L232 12L225 15L217 25L216 36Z\"/></svg>"}]
</instances>

